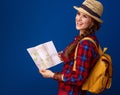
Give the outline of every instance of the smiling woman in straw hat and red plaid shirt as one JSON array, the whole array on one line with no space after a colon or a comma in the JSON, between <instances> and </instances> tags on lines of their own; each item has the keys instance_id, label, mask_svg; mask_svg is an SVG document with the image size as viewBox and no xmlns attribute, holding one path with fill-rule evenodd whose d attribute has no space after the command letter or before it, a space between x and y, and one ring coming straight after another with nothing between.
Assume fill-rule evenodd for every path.
<instances>
[{"instance_id":1,"label":"smiling woman in straw hat and red plaid shirt","mask_svg":"<svg viewBox=\"0 0 120 95\"><path fill-rule=\"evenodd\" d=\"M62 72L40 70L43 77L58 81L58 95L86 95L86 91L81 90L82 84L99 57L95 45L89 40L82 39L92 38L99 45L95 32L102 23L100 19L103 12L102 4L96 0L85 0L80 7L74 6L74 8L78 11L75 21L76 29L80 32L74 41L59 53L64 62ZM75 57L76 46L78 48ZM75 71L74 62L76 62Z\"/></svg>"}]
</instances>

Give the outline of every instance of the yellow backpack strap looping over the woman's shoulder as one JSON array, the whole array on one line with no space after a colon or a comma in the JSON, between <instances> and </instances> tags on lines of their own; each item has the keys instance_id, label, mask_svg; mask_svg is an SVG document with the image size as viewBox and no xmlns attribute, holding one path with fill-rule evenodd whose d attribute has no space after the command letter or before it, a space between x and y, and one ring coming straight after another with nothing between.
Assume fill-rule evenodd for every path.
<instances>
[{"instance_id":1,"label":"yellow backpack strap looping over the woman's shoulder","mask_svg":"<svg viewBox=\"0 0 120 95\"><path fill-rule=\"evenodd\" d=\"M85 37L85 38L83 38L80 41L83 41L83 40L89 40L89 41L91 41L95 45L95 47L97 48L98 53L100 54L100 56L103 55L106 52L106 50L107 50L107 48L104 48L102 50L102 48L100 47L100 45L98 47L97 44L95 43L95 41L92 38L90 38L90 37ZM76 57L77 57L78 46L79 46L79 43L77 44L76 49L75 49L73 71L76 71Z\"/></svg>"}]
</instances>

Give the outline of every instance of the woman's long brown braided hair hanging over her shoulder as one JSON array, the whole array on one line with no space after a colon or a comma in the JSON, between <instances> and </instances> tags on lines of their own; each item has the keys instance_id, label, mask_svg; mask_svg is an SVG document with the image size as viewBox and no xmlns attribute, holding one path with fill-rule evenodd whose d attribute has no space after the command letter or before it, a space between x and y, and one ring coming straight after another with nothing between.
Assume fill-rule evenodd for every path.
<instances>
[{"instance_id":1,"label":"woman's long brown braided hair hanging over her shoulder","mask_svg":"<svg viewBox=\"0 0 120 95\"><path fill-rule=\"evenodd\" d=\"M79 38L75 41L75 43L70 44L66 49L65 49L65 56L69 59L70 54L75 50L78 42L83 39L86 36L89 36L92 33L95 33L98 31L101 27L101 23L97 22L96 20L92 19L93 25L89 28L86 29L85 33L79 36Z\"/></svg>"}]
</instances>

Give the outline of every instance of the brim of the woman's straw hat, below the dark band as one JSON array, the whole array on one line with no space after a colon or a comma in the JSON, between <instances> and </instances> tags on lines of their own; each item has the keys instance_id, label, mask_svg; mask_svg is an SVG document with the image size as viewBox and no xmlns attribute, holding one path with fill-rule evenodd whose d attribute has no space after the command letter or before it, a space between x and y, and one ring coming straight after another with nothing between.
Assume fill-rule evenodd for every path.
<instances>
[{"instance_id":1,"label":"brim of the woman's straw hat, below the dark band","mask_svg":"<svg viewBox=\"0 0 120 95\"><path fill-rule=\"evenodd\" d=\"M87 11L84 10L83 8L77 7L77 6L73 6L73 8L76 9L77 11L79 11L79 12L82 12L82 13L87 14L88 16L92 17L92 18L95 19L96 21L98 21L98 22L100 22L100 23L103 23L103 21L102 21L100 18L91 15L89 12L87 12Z\"/></svg>"}]
</instances>

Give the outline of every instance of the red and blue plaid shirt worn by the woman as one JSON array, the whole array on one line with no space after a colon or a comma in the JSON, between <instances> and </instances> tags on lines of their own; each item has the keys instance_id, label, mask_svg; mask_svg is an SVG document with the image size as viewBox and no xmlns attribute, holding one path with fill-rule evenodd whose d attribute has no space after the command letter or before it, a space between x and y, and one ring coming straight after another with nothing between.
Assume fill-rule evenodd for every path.
<instances>
[{"instance_id":1,"label":"red and blue plaid shirt worn by the woman","mask_svg":"<svg viewBox=\"0 0 120 95\"><path fill-rule=\"evenodd\" d=\"M92 38L97 45L99 44L95 34L89 37ZM75 37L71 44L73 44L77 38L78 36ZM59 89L67 91L68 95L79 95L81 85L87 78L91 67L98 59L99 54L97 48L89 40L80 41L76 59L74 59L75 51L73 51L69 60L65 58L64 51L62 53L64 60L62 74L64 74L64 81L59 81ZM76 60L76 71L73 71L74 60Z\"/></svg>"}]
</instances>

